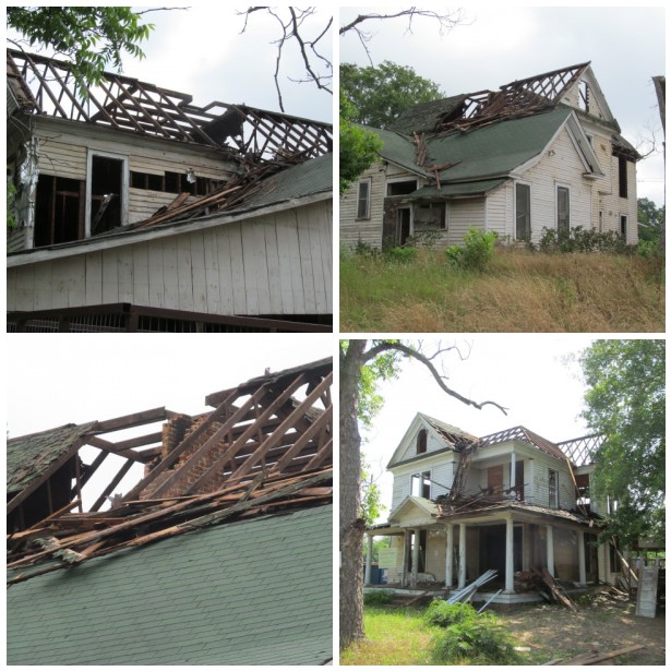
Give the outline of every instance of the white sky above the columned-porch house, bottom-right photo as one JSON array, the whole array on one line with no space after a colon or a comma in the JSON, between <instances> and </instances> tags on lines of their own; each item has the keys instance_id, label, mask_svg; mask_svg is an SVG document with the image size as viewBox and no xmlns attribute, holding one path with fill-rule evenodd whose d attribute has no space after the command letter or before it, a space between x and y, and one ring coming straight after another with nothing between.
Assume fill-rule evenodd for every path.
<instances>
[{"instance_id":1,"label":"white sky above the columned-porch house, bottom-right photo","mask_svg":"<svg viewBox=\"0 0 671 671\"><path fill-rule=\"evenodd\" d=\"M424 337L432 352L435 335ZM477 436L524 426L550 441L561 442L589 433L580 419L585 387L577 360L566 358L589 346L590 335L459 335L442 336L443 346L457 345L443 361L447 384L478 403L494 400L508 408L507 416L494 406L471 408L447 396L419 362L407 362L398 380L380 385L384 407L366 434L366 459L383 491L387 510L392 496L391 474L384 469L417 412L453 424ZM384 474L384 475L383 475Z\"/></svg>"}]
</instances>

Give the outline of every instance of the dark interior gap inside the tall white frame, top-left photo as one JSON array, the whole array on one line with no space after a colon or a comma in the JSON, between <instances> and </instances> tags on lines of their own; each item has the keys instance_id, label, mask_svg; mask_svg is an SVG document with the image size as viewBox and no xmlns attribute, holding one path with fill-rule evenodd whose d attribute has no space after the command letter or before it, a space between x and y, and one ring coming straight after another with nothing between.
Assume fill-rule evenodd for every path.
<instances>
[{"instance_id":1,"label":"dark interior gap inside the tall white frame, top-left photo","mask_svg":"<svg viewBox=\"0 0 671 671\"><path fill-rule=\"evenodd\" d=\"M93 156L91 160L91 235L121 226L123 160Z\"/></svg>"}]
</instances>

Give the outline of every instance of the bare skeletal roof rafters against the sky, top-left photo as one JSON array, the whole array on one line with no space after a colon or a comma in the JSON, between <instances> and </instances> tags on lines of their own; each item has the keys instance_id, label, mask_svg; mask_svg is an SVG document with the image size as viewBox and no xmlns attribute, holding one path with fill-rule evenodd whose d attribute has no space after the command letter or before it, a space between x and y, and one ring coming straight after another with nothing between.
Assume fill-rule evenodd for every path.
<instances>
[{"instance_id":1,"label":"bare skeletal roof rafters against the sky, top-left photo","mask_svg":"<svg viewBox=\"0 0 671 671\"><path fill-rule=\"evenodd\" d=\"M29 115L46 115L97 127L201 144L231 156L302 159L332 151L328 123L247 105L213 101L136 79L104 73L82 96L70 63L8 49L9 93Z\"/></svg>"}]
</instances>

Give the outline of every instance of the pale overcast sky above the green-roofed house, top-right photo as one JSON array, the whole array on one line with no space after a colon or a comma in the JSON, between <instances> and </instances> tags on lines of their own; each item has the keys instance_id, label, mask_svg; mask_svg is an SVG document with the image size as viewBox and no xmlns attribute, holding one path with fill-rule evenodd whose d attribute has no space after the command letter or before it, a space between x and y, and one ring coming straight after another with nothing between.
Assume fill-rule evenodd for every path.
<instances>
[{"instance_id":1,"label":"pale overcast sky above the green-roofed house, top-right photo","mask_svg":"<svg viewBox=\"0 0 671 671\"><path fill-rule=\"evenodd\" d=\"M658 3L659 4L659 3ZM457 4L453 5L455 9ZM446 95L495 91L535 74L591 61L608 104L635 146L662 132L651 79L666 73L662 7L515 7L464 3L462 22L439 34L436 23L371 22L373 64L409 65L438 83ZM392 13L380 5L373 11ZM342 8L340 25L371 8ZM444 11L441 7L440 11ZM369 65L359 40L340 40L340 62ZM638 196L663 204L661 154L638 164Z\"/></svg>"}]
</instances>

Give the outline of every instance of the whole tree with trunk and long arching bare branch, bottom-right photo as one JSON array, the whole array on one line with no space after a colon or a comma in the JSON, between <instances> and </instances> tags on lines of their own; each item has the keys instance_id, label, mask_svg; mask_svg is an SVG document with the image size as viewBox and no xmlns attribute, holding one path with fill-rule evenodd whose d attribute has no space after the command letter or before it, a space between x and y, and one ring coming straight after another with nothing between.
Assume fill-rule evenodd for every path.
<instances>
[{"instance_id":1,"label":"whole tree with trunk and long arching bare branch, bottom-right photo","mask_svg":"<svg viewBox=\"0 0 671 671\"><path fill-rule=\"evenodd\" d=\"M363 637L362 541L366 520L361 512L359 422L370 423L374 412L381 407L378 381L398 375L404 360L419 361L427 367L445 394L480 409L493 405L505 414L505 408L499 404L491 400L476 403L446 384L446 375L439 370L439 366L444 363L445 354L458 354L456 347L438 345L431 355L424 354L422 349L421 343L411 346L393 339L340 340L340 649Z\"/></svg>"}]
</instances>

